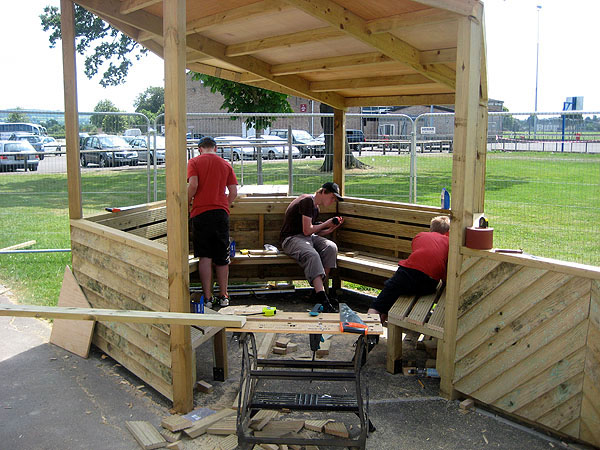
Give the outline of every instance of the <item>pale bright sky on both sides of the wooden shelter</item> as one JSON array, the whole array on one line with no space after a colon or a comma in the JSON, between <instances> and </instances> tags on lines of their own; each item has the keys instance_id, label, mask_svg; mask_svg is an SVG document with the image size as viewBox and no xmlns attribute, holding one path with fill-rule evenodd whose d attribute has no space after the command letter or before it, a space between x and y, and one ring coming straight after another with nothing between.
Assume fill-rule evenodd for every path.
<instances>
[{"instance_id":1,"label":"pale bright sky on both sides of the wooden shelter","mask_svg":"<svg viewBox=\"0 0 600 450\"><path fill-rule=\"evenodd\" d=\"M49 47L39 15L59 0L2 2L0 14L0 109L63 110L60 43ZM538 111L560 111L566 97L583 96L585 111L600 111L597 57L598 0L484 0L488 95L512 112L534 111L539 17ZM537 6L541 9L538 12ZM149 54L134 62L127 82L103 88L83 74L77 57L78 103L92 111L110 99L133 111L137 95L163 85L163 62Z\"/></svg>"}]
</instances>

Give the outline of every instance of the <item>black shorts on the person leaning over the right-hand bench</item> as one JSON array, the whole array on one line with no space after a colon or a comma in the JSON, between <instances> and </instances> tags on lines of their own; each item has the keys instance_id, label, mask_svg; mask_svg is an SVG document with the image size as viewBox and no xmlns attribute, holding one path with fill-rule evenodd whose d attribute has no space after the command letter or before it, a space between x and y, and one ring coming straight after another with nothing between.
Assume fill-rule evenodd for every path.
<instances>
[{"instance_id":1,"label":"black shorts on the person leaning over the right-hand bench","mask_svg":"<svg viewBox=\"0 0 600 450\"><path fill-rule=\"evenodd\" d=\"M439 281L420 270L398 266L392 278L386 280L383 290L371 303L371 308L387 314L401 295L427 295L435 292Z\"/></svg>"}]
</instances>

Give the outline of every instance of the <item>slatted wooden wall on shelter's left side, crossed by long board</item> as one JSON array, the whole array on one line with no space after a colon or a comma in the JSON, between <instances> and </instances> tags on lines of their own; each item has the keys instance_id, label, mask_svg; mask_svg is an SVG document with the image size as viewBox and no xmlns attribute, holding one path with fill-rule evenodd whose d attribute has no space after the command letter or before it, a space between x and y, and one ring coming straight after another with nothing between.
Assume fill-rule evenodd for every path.
<instances>
[{"instance_id":1,"label":"slatted wooden wall on shelter's left side, crossed by long board","mask_svg":"<svg viewBox=\"0 0 600 450\"><path fill-rule=\"evenodd\" d=\"M103 222L123 226L135 220L140 225L140 217L152 220L157 213L132 212L129 218L121 214ZM166 246L161 257L159 244L144 248L138 239L92 221L71 222L73 272L93 308L169 311ZM173 398L168 325L99 322L93 343L165 397Z\"/></svg>"}]
</instances>

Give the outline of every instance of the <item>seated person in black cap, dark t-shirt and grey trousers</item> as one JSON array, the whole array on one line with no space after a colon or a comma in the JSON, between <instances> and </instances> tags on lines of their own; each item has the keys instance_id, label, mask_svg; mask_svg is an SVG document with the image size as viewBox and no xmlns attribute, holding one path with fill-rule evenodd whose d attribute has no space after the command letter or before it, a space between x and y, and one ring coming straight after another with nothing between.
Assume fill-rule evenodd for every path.
<instances>
[{"instance_id":1,"label":"seated person in black cap, dark t-shirt and grey trousers","mask_svg":"<svg viewBox=\"0 0 600 450\"><path fill-rule=\"evenodd\" d=\"M343 201L336 183L327 182L314 194L303 194L294 199L285 211L280 233L281 246L287 255L294 258L304 269L304 275L315 289L317 303L325 312L336 308L325 293L329 271L336 267L337 245L326 236L344 221L332 217L323 223L317 222L319 208L335 201Z\"/></svg>"}]
</instances>

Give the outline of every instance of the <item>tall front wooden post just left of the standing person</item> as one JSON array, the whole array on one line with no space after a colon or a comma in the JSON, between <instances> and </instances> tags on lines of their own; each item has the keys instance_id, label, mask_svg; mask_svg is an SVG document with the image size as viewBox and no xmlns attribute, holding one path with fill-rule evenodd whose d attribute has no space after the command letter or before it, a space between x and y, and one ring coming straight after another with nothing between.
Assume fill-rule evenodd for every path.
<instances>
[{"instance_id":1,"label":"tall front wooden post just left of the standing person","mask_svg":"<svg viewBox=\"0 0 600 450\"><path fill-rule=\"evenodd\" d=\"M163 2L163 30L169 306L173 312L189 312L185 0ZM173 408L187 413L194 406L189 326L171 326L171 359Z\"/></svg>"}]
</instances>

